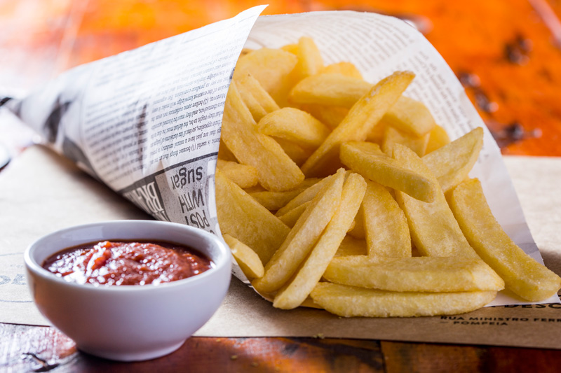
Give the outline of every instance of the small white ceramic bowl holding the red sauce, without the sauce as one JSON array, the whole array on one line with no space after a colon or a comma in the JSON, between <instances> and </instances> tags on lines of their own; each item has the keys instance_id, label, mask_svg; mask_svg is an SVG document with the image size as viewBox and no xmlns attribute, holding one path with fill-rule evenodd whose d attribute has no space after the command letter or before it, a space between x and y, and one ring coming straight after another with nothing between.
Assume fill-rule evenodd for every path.
<instances>
[{"instance_id":1,"label":"small white ceramic bowl holding the red sauce, without the sauce","mask_svg":"<svg viewBox=\"0 0 561 373\"><path fill-rule=\"evenodd\" d=\"M104 240L170 241L214 262L202 274L144 286L69 283L41 265L54 253ZM25 251L27 281L41 314L81 351L111 360L148 360L178 349L215 313L231 278L229 248L213 234L187 225L118 220L79 225L38 239Z\"/></svg>"}]
</instances>

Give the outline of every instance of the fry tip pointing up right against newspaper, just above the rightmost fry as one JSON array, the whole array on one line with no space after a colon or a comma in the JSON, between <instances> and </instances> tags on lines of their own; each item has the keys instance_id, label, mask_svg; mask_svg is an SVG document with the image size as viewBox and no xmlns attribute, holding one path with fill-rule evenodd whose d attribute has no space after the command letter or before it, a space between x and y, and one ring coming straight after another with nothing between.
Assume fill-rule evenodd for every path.
<instances>
[{"instance_id":1,"label":"fry tip pointing up right against newspaper, just above the rightmost fry","mask_svg":"<svg viewBox=\"0 0 561 373\"><path fill-rule=\"evenodd\" d=\"M459 139L428 153L423 162L447 192L468 177L483 146L483 129L477 127Z\"/></svg>"}]
</instances>

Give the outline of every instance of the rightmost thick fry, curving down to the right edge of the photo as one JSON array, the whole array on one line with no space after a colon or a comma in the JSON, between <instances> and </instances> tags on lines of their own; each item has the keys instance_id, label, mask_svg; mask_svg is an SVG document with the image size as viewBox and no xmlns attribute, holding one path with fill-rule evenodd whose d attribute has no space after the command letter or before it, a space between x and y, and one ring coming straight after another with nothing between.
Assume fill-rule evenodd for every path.
<instances>
[{"instance_id":1,"label":"rightmost thick fry, curving down to the right edge of the photo","mask_svg":"<svg viewBox=\"0 0 561 373\"><path fill-rule=\"evenodd\" d=\"M508 237L489 209L478 179L464 181L448 197L469 243L504 279L508 290L532 302L557 293L560 277L530 258Z\"/></svg>"}]
</instances>

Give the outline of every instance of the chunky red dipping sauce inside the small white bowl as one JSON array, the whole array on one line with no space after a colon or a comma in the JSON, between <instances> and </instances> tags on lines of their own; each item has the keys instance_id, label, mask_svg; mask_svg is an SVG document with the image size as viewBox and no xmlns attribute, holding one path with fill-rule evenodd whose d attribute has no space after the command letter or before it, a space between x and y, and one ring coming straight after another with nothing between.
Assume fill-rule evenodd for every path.
<instances>
[{"instance_id":1,"label":"chunky red dipping sauce inside the small white bowl","mask_svg":"<svg viewBox=\"0 0 561 373\"><path fill-rule=\"evenodd\" d=\"M68 282L147 285L187 279L212 267L191 248L168 242L91 242L59 251L43 268Z\"/></svg>"}]
</instances>

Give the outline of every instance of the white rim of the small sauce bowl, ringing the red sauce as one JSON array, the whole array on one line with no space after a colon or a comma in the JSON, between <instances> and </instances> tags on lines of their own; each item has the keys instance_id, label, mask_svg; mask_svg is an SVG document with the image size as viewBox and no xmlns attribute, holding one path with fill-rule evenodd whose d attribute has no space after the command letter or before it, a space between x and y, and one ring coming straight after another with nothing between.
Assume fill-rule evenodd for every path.
<instances>
[{"instance_id":1,"label":"white rim of the small sauce bowl, ringing the red sauce","mask_svg":"<svg viewBox=\"0 0 561 373\"><path fill-rule=\"evenodd\" d=\"M104 286L104 285L95 285L95 284L88 284L88 283L75 283L75 282L71 282L71 281L65 281L65 279L63 279L61 276L56 276L55 274L53 274L53 272L50 272L47 269L43 268L32 257L32 251L34 251L35 248L38 247L39 243L42 240L47 239L48 237L53 237L57 234L63 234L65 232L72 232L72 230L84 229L84 228L88 228L88 227L96 227L96 226L107 225L107 224L110 224L110 225L112 225L112 224L165 225L167 227L173 227L175 229L187 230L192 234L202 235L206 239L209 239L210 241L212 241L212 243L215 244L219 248L220 254L217 255L217 258L211 258L212 263L214 263L214 265L212 267L210 267L210 269L208 269L207 271L205 271L201 274L196 274L195 276L187 277L187 279L180 279L180 280L176 280L176 281L158 283L157 285L149 283L149 284L146 284L146 285L123 285L123 286L119 286L119 285ZM115 238L115 239L119 239L119 238ZM151 238L150 237L139 237L138 239L142 240L142 241L149 241ZM102 239L100 239L100 240L102 240ZM158 240L159 241L165 241L165 240L162 240L162 239L155 239L154 241L158 241ZM93 241L96 241L96 240L93 240ZM87 242L93 242L93 241L88 240ZM87 242L84 242L84 243L86 244ZM176 244L182 244L180 242L175 242L175 243ZM186 245L186 246L188 246L188 245ZM204 253L200 248L196 248L196 247L192 247L192 248L194 248L194 250L198 251L199 253L203 253L204 255L208 255L207 253ZM64 250L64 249L65 248L60 248L59 251ZM56 252L58 252L58 251L55 251L55 253ZM210 256L210 255L208 255L208 256ZM177 287L180 287L180 286L189 286L189 283L197 283L197 282L205 281L205 279L207 279L208 277L215 276L215 274L220 272L220 269L223 269L223 267L231 265L230 249L228 248L228 246L226 244L224 244L224 242L221 239L219 239L219 237L217 237L216 234L212 234L210 232L202 230L201 228L195 228L195 227L191 227L189 225L185 225L185 224L181 224L181 223L173 223L173 222L167 222L167 221L162 221L162 220L140 220L140 219L137 219L137 220L132 220L132 219L131 220L128 220L128 219L103 220L103 221L99 221L99 222L95 222L95 223L72 225L72 226L69 226L69 227L62 228L60 230L55 230L55 231L50 232L48 234L44 234L43 236L39 237L38 239L33 241L31 244L29 244L29 246L27 246L27 248L25 249L23 257L24 257L25 267L29 270L29 272L33 272L34 274L36 274L36 276L40 276L42 279L44 279L46 281L51 281L51 282L57 283L60 286L69 286L71 288L76 288L76 289L79 288L81 290L90 291L90 292L107 292L107 291L109 291L109 292L147 292L147 291L155 291L155 289L158 289L158 288L159 289L172 290L173 288L177 288ZM161 291L163 291L163 290L161 290Z\"/></svg>"}]
</instances>

